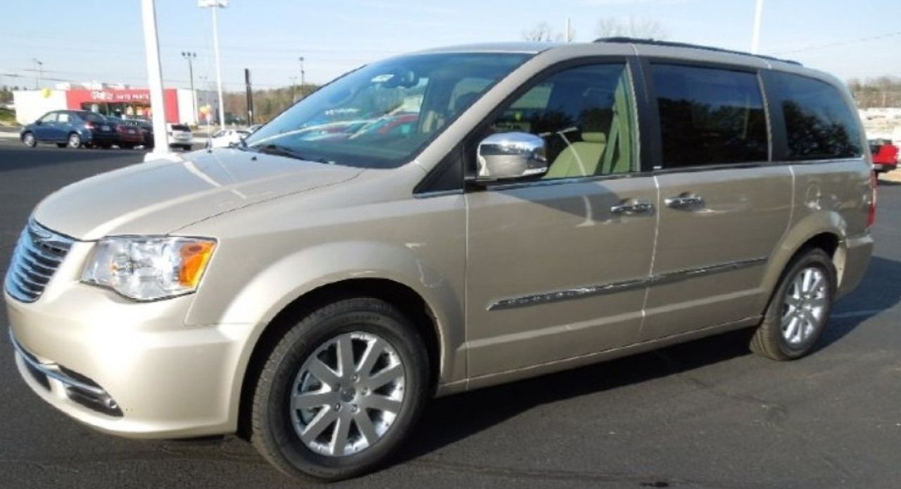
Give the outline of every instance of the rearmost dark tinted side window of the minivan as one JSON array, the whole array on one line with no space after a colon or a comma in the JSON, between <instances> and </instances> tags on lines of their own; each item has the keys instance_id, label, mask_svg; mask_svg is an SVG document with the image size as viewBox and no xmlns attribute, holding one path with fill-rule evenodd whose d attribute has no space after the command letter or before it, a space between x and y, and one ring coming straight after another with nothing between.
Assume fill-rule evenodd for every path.
<instances>
[{"instance_id":1,"label":"rearmost dark tinted side window of the minivan","mask_svg":"<svg viewBox=\"0 0 901 489\"><path fill-rule=\"evenodd\" d=\"M767 90L782 108L789 160L860 156L860 125L838 88L774 72L767 78Z\"/></svg>"}]
</instances>

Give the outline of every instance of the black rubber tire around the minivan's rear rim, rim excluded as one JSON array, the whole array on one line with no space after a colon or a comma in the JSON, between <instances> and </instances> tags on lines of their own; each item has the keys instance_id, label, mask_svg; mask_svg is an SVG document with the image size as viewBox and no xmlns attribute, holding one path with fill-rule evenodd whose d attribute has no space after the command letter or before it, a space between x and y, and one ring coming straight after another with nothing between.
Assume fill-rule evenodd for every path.
<instances>
[{"instance_id":1,"label":"black rubber tire around the minivan's rear rim, rim excluded","mask_svg":"<svg viewBox=\"0 0 901 489\"><path fill-rule=\"evenodd\" d=\"M789 296L789 291L793 291L792 296L795 296L794 291L797 290L797 286L793 285L793 283L799 275L806 270L818 270L822 273L825 282L822 291L824 309L818 320L810 320L809 324L811 326L810 328L807 328L809 333L807 333L805 337L800 337L796 343L793 343L786 337L791 335L783 331L783 316L790 317L791 308L793 307L796 311L803 310L803 307L798 308L788 305L787 298ZM754 337L751 338L751 351L778 361L796 360L797 358L801 358L810 353L816 345L816 341L823 335L823 331L829 322L829 316L832 314L836 282L835 265L833 264L832 258L830 258L823 250L813 248L797 254L796 257L788 263L785 272L782 273L782 277L779 279L778 287L773 293L772 299L769 300L769 306L767 307L763 320L757 328L757 331L755 331ZM803 291L798 291L797 293L798 295L805 295ZM819 294L811 293L809 295L811 298L808 300L818 300L813 296L818 296ZM813 318L813 316L811 316L811 318ZM805 326L802 324L797 326L797 328L805 328ZM793 330L790 326L786 329L788 331Z\"/></svg>"}]
</instances>

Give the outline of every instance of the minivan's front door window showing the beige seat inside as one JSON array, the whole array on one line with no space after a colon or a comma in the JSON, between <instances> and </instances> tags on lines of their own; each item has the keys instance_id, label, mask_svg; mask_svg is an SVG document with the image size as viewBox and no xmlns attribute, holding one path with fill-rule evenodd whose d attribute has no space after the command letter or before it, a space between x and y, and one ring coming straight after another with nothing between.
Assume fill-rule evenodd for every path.
<instances>
[{"instance_id":1,"label":"minivan's front door window showing the beige seat inside","mask_svg":"<svg viewBox=\"0 0 901 489\"><path fill-rule=\"evenodd\" d=\"M624 63L564 69L501 109L494 133L541 136L550 161L545 180L633 171L632 85Z\"/></svg>"}]
</instances>

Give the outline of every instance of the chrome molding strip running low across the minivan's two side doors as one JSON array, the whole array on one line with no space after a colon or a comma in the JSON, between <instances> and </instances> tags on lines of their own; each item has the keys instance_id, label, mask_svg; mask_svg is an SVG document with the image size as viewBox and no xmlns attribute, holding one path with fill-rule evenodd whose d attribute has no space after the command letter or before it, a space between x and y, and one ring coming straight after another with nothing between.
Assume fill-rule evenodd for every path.
<instances>
[{"instance_id":1,"label":"chrome molding strip running low across the minivan's two side doors","mask_svg":"<svg viewBox=\"0 0 901 489\"><path fill-rule=\"evenodd\" d=\"M733 272L742 268L766 263L767 257L751 258L748 260L737 260L734 262L715 263L696 268L687 268L677 270L675 272L659 273L644 279L634 279L629 281L614 281L610 283L585 285L582 287L574 287L571 289L563 289L560 291L542 292L538 294L529 294L509 299L496 300L487 305L487 310L503 310L515 309L536 304L546 304L549 302L558 302L560 300L582 299L585 297L604 295L615 292L630 291L649 287L654 285L662 285L676 281L683 281L693 277L709 275L721 272Z\"/></svg>"}]
</instances>

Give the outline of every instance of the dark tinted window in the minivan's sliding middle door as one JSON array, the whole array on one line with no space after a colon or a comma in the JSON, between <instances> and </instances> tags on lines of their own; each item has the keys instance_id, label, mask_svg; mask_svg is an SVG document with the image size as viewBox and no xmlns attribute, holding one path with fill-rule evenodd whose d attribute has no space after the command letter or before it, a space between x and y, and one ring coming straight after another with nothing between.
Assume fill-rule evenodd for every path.
<instances>
[{"instance_id":1,"label":"dark tinted window in the minivan's sliding middle door","mask_svg":"<svg viewBox=\"0 0 901 489\"><path fill-rule=\"evenodd\" d=\"M655 64L663 167L769 160L767 118L753 73Z\"/></svg>"}]
</instances>

